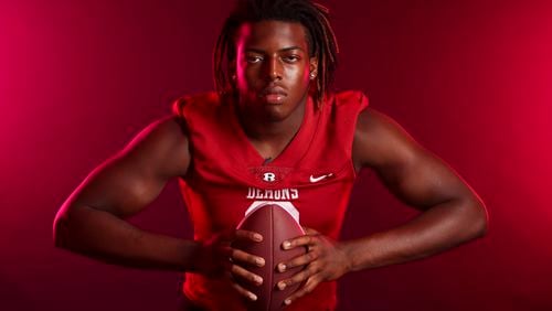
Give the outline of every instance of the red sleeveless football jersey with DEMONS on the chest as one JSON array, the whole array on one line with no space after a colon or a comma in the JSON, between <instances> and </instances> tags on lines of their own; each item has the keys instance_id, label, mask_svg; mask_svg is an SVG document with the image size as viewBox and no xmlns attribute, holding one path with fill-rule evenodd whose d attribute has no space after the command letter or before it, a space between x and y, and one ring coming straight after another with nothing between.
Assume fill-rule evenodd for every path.
<instances>
[{"instance_id":1,"label":"red sleeveless football jersey with DEMONS on the chest","mask_svg":"<svg viewBox=\"0 0 552 311\"><path fill-rule=\"evenodd\" d=\"M190 153L182 196L194 238L235 228L256 204L291 204L302 226L338 239L355 178L351 160L359 112L368 98L359 92L330 95L320 108L309 97L299 131L286 149L266 161L248 141L231 98L215 93L183 97L173 110L185 119ZM245 310L226 281L187 272L184 294L209 310ZM320 283L287 310L333 310L336 281Z\"/></svg>"}]
</instances>

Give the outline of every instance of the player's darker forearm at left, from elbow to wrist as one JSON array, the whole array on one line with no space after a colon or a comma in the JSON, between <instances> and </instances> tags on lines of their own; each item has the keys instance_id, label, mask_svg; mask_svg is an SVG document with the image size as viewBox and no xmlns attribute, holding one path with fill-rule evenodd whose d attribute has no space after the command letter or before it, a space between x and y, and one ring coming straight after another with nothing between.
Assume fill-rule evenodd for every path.
<instances>
[{"instance_id":1,"label":"player's darker forearm at left, from elbow to wrist","mask_svg":"<svg viewBox=\"0 0 552 311\"><path fill-rule=\"evenodd\" d=\"M54 224L57 247L135 268L194 270L199 244L141 230L115 215L78 206Z\"/></svg>"}]
</instances>

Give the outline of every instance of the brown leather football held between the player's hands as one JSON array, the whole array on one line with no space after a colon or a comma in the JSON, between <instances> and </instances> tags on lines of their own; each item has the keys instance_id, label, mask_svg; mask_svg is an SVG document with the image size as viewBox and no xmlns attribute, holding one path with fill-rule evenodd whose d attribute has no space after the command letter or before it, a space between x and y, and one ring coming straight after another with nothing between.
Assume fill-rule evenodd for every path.
<instances>
[{"instance_id":1,"label":"brown leather football held between the player's hands","mask_svg":"<svg viewBox=\"0 0 552 311\"><path fill-rule=\"evenodd\" d=\"M296 291L301 285L290 286L279 290L277 283L287 279L304 267L295 267L279 272L277 265L295 258L307 251L306 247L284 250L282 244L290 238L305 235L299 225L299 213L290 203L259 204L252 206L245 217L237 225L238 229L252 230L263 235L263 242L235 242L233 247L246 253L265 258L265 266L244 266L245 269L263 278L263 285L255 286L245 280L236 281L257 296L256 301L248 302L248 310L280 310L285 307L284 300Z\"/></svg>"}]
</instances>

